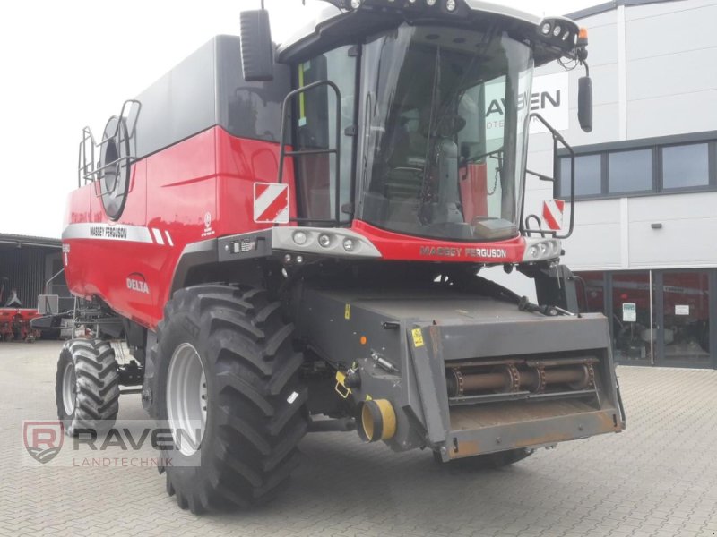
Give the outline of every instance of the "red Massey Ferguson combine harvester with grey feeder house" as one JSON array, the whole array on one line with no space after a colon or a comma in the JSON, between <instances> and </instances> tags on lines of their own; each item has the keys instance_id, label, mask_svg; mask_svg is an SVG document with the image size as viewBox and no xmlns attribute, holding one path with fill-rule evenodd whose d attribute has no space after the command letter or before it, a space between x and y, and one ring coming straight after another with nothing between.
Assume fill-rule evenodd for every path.
<instances>
[{"instance_id":1,"label":"red Massey Ferguson combine harvester with grey feeder house","mask_svg":"<svg viewBox=\"0 0 717 537\"><path fill-rule=\"evenodd\" d=\"M58 413L111 422L141 385L194 440L166 479L195 513L272 496L307 431L499 466L625 426L608 322L559 264L572 216L523 214L533 69L585 64L586 35L480 0L329 4L279 47L242 13L84 132L63 251L91 338L60 355Z\"/></svg>"}]
</instances>

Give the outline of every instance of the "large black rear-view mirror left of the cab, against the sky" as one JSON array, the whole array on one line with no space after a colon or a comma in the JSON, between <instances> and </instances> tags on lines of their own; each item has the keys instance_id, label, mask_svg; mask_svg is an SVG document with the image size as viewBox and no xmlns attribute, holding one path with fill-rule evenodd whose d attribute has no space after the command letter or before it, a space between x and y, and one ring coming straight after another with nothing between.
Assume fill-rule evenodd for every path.
<instances>
[{"instance_id":1,"label":"large black rear-view mirror left of the cab, against the sky","mask_svg":"<svg viewBox=\"0 0 717 537\"><path fill-rule=\"evenodd\" d=\"M266 82L274 78L274 49L269 12L245 11L240 15L241 64L244 80Z\"/></svg>"}]
</instances>

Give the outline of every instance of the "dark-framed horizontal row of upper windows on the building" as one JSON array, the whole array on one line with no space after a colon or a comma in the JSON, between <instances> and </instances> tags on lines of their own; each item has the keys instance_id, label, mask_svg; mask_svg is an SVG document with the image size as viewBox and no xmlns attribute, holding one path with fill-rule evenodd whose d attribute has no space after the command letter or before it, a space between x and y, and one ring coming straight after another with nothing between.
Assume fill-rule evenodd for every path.
<instances>
[{"instance_id":1,"label":"dark-framed horizontal row of upper windows on the building","mask_svg":"<svg viewBox=\"0 0 717 537\"><path fill-rule=\"evenodd\" d=\"M570 158L560 159L556 195L570 196ZM717 190L717 132L620 141L575 149L575 197L621 198Z\"/></svg>"}]
</instances>

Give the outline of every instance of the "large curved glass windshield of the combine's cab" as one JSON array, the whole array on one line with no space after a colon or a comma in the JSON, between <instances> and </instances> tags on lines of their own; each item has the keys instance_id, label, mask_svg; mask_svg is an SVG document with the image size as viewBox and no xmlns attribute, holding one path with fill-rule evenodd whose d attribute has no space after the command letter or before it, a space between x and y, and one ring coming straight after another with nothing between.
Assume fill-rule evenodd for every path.
<instances>
[{"instance_id":1,"label":"large curved glass windshield of the combine's cab","mask_svg":"<svg viewBox=\"0 0 717 537\"><path fill-rule=\"evenodd\" d=\"M360 217L451 240L518 234L531 48L504 32L403 25L363 62Z\"/></svg>"}]
</instances>

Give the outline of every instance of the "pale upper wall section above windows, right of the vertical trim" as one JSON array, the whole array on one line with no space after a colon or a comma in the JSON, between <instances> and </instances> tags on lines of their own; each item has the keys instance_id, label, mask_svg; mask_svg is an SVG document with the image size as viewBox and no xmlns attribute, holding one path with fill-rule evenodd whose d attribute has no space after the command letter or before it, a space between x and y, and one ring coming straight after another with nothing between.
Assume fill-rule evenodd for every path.
<instances>
[{"instance_id":1,"label":"pale upper wall section above windows, right of the vertical trim","mask_svg":"<svg viewBox=\"0 0 717 537\"><path fill-rule=\"evenodd\" d=\"M717 4L628 7L625 19L628 137L717 129Z\"/></svg>"}]
</instances>

